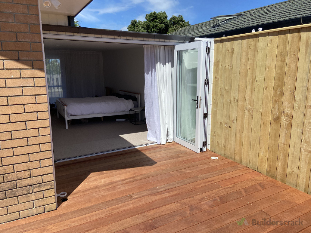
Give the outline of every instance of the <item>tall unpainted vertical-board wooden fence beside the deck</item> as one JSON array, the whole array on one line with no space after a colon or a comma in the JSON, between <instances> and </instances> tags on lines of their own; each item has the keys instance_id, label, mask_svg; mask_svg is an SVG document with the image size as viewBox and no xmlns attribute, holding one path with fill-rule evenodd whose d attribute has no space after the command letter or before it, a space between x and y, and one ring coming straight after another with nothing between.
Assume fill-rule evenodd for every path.
<instances>
[{"instance_id":1,"label":"tall unpainted vertical-board wooden fence beside the deck","mask_svg":"<svg viewBox=\"0 0 311 233\"><path fill-rule=\"evenodd\" d=\"M311 25L215 39L211 150L311 194Z\"/></svg>"}]
</instances>

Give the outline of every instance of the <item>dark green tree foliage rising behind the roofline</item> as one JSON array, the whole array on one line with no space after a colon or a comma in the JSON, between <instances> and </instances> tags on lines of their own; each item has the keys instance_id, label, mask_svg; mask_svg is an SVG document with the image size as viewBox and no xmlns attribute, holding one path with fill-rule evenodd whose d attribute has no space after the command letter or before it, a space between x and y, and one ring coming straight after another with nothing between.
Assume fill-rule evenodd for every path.
<instances>
[{"instance_id":1,"label":"dark green tree foliage rising behind the roofline","mask_svg":"<svg viewBox=\"0 0 311 233\"><path fill-rule=\"evenodd\" d=\"M182 15L173 15L170 19L167 19L165 11L150 12L146 14L145 19L145 21L132 20L131 24L128 25L128 30L133 32L169 34L190 25L189 21L185 21Z\"/></svg>"}]
</instances>

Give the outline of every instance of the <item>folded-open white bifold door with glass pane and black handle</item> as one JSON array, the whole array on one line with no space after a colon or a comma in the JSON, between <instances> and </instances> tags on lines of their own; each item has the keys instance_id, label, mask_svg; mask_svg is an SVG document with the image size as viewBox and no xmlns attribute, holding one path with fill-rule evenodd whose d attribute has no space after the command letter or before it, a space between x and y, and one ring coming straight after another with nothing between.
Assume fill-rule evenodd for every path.
<instances>
[{"instance_id":1,"label":"folded-open white bifold door with glass pane and black handle","mask_svg":"<svg viewBox=\"0 0 311 233\"><path fill-rule=\"evenodd\" d=\"M210 40L179 44L174 51L174 141L206 151Z\"/></svg>"}]
</instances>

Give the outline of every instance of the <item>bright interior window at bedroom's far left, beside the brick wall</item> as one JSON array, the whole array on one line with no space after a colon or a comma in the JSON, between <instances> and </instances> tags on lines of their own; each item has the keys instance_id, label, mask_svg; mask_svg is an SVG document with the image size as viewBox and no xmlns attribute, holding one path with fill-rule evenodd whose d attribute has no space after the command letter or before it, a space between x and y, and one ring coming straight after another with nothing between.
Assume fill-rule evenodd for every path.
<instances>
[{"instance_id":1,"label":"bright interior window at bedroom's far left, beside the brick wall","mask_svg":"<svg viewBox=\"0 0 311 233\"><path fill-rule=\"evenodd\" d=\"M63 97L62 75L59 59L45 59L50 102ZM51 101L52 100L52 101Z\"/></svg>"}]
</instances>

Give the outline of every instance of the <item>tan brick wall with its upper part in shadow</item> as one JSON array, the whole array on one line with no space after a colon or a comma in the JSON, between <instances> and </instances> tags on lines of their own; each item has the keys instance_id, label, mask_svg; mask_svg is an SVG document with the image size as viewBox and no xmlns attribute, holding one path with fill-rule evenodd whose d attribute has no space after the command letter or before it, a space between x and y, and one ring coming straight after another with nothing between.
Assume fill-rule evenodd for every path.
<instances>
[{"instance_id":1,"label":"tan brick wall with its upper part in shadow","mask_svg":"<svg viewBox=\"0 0 311 233\"><path fill-rule=\"evenodd\" d=\"M37 0L0 0L0 223L56 208Z\"/></svg>"}]
</instances>

